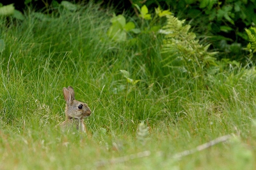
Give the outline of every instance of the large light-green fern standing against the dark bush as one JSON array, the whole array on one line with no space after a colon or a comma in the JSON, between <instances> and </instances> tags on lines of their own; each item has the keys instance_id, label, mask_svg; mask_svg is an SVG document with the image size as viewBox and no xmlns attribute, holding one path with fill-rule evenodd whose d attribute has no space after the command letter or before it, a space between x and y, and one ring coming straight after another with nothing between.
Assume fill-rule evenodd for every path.
<instances>
[{"instance_id":1,"label":"large light-green fern standing against the dark bush","mask_svg":"<svg viewBox=\"0 0 256 170\"><path fill-rule=\"evenodd\" d=\"M214 65L216 52L207 52L210 45L200 45L196 35L189 32L191 26L184 25L185 20L179 20L172 15L167 15L167 24L163 27L164 41L162 53L168 54L163 62L168 68L183 67L188 73L202 72L205 66ZM182 58L180 63L177 59ZM175 61L175 62L174 62Z\"/></svg>"}]
</instances>

